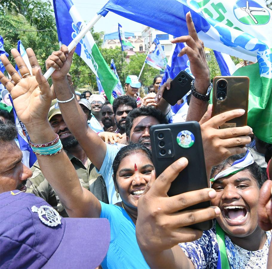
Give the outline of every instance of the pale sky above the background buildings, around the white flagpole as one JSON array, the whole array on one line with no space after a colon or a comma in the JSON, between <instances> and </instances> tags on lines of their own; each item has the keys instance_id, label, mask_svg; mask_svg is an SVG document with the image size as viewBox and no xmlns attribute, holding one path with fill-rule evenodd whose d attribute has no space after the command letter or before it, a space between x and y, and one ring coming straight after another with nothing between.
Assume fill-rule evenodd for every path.
<instances>
[{"instance_id":1,"label":"pale sky above the background buildings, around the white flagpole","mask_svg":"<svg viewBox=\"0 0 272 269\"><path fill-rule=\"evenodd\" d=\"M50 0L53 8L53 0ZM107 0L72 0L82 19L87 23L96 15L106 3ZM121 17L115 13L109 12L106 17L102 17L95 25L95 32L103 31L111 33L117 31L118 22L126 32L141 32L143 25Z\"/></svg>"}]
</instances>

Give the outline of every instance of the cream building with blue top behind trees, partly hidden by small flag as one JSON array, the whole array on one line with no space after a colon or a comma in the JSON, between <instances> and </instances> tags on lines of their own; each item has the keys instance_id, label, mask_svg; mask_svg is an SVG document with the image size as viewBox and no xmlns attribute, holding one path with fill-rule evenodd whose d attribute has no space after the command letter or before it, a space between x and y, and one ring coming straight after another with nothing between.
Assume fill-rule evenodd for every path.
<instances>
[{"instance_id":1,"label":"cream building with blue top behind trees, partly hidden by small flag","mask_svg":"<svg viewBox=\"0 0 272 269\"><path fill-rule=\"evenodd\" d=\"M115 47L121 47L121 43L118 36L118 31L113 33L107 33L100 36L103 39L102 48L114 49ZM126 61L129 62L129 57L135 55L136 52L145 53L144 41L141 36L141 32L125 32L125 37L132 43L134 48L126 50Z\"/></svg>"}]
</instances>

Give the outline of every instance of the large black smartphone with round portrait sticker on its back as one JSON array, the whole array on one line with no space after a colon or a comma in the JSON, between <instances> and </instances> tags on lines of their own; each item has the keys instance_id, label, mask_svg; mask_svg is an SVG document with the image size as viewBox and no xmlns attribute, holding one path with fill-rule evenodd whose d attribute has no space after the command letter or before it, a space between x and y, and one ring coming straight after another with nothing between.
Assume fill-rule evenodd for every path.
<instances>
[{"instance_id":1,"label":"large black smartphone with round portrait sticker on its back","mask_svg":"<svg viewBox=\"0 0 272 269\"><path fill-rule=\"evenodd\" d=\"M208 188L200 125L197 121L158 124L150 127L152 159L158 177L169 165L181 157L188 159L188 166L179 173L168 191L169 196ZM184 210L210 207L210 201ZM209 230L213 221L208 220L189 227Z\"/></svg>"}]
</instances>

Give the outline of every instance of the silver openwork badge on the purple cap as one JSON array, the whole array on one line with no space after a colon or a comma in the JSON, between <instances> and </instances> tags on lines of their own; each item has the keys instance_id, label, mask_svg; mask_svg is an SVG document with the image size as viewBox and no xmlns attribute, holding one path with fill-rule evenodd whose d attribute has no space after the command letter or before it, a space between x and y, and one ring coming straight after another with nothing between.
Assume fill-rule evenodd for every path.
<instances>
[{"instance_id":1,"label":"silver openwork badge on the purple cap","mask_svg":"<svg viewBox=\"0 0 272 269\"><path fill-rule=\"evenodd\" d=\"M36 207L31 207L32 212L36 212L39 215L39 219L42 221L43 224L55 227L59 224L61 224L61 217L59 213L53 208L49 207L47 205ZM45 217L43 217L45 215Z\"/></svg>"}]
</instances>

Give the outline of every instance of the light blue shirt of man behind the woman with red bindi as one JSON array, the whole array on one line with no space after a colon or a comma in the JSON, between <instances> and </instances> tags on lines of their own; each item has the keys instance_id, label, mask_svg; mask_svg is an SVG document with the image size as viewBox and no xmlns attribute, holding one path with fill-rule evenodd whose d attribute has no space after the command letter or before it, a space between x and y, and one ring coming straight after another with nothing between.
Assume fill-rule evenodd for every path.
<instances>
[{"instance_id":1,"label":"light blue shirt of man behind the woman with red bindi","mask_svg":"<svg viewBox=\"0 0 272 269\"><path fill-rule=\"evenodd\" d=\"M116 204L117 202L122 201L119 197L117 200L116 191L114 188L113 183L113 169L112 163L114 161L115 156L117 155L118 151L123 148L124 144L106 144L107 145L107 152L102 163L100 170L96 169L97 173L103 176L104 181L106 183L106 188L108 192L109 204Z\"/></svg>"}]
</instances>

